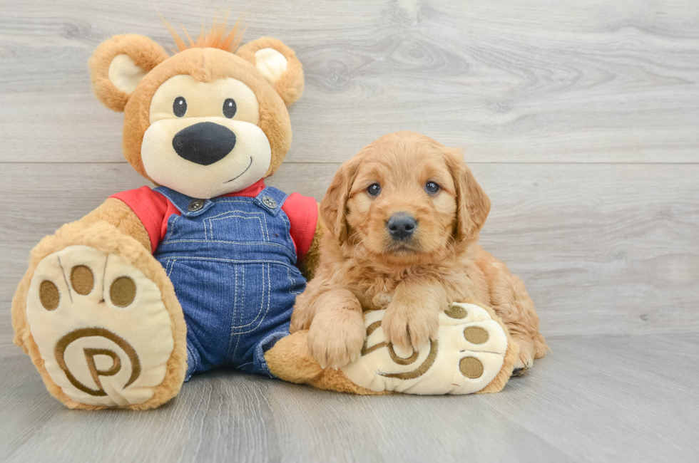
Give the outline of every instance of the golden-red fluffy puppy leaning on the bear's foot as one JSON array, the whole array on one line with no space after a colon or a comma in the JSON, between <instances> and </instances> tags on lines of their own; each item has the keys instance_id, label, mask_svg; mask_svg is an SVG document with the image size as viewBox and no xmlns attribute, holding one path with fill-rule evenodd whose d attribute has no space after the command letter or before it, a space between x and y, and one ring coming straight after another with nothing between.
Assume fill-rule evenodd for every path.
<instances>
[{"instance_id":1,"label":"golden-red fluffy puppy leaning on the bear's foot","mask_svg":"<svg viewBox=\"0 0 699 463\"><path fill-rule=\"evenodd\" d=\"M489 304L519 343L515 373L545 354L524 283L476 245L490 199L460 150L414 132L385 135L345 162L320 213L328 232L315 278L296 300L292 333L308 329L323 368L355 360L363 311L386 308L382 328L400 352L437 334L451 301Z\"/></svg>"}]
</instances>

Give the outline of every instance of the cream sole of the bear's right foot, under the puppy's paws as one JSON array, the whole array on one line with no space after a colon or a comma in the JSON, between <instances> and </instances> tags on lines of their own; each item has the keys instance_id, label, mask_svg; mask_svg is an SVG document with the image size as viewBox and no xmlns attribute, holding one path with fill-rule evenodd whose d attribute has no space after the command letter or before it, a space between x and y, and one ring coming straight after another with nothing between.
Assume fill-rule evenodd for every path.
<instances>
[{"instance_id":1,"label":"cream sole of the bear's right foot, under the puppy's paws","mask_svg":"<svg viewBox=\"0 0 699 463\"><path fill-rule=\"evenodd\" d=\"M384 342L384 312L364 314L367 340L362 357L341 369L360 387L429 395L497 392L511 375L518 346L499 320L480 306L451 305L439 314L437 338L412 355L399 355Z\"/></svg>"}]
</instances>

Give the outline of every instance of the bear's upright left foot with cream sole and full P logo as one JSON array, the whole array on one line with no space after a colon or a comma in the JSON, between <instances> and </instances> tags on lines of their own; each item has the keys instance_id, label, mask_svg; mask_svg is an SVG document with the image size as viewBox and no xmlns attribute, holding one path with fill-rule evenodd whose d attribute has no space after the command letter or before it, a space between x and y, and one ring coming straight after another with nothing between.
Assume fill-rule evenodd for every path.
<instances>
[{"instance_id":1,"label":"bear's upright left foot with cream sole and full P logo","mask_svg":"<svg viewBox=\"0 0 699 463\"><path fill-rule=\"evenodd\" d=\"M68 246L41 259L31 276L24 345L51 393L70 407L155 407L183 382L181 308L174 293L163 298L172 285L152 256L148 267L130 251ZM128 260L145 261L151 278Z\"/></svg>"}]
</instances>

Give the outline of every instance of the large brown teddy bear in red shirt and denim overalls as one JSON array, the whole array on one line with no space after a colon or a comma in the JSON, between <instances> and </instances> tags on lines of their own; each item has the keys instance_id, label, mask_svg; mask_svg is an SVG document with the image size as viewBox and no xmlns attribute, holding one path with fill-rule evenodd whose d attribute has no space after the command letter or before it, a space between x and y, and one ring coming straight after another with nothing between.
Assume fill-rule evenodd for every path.
<instances>
[{"instance_id":1,"label":"large brown teddy bear in red shirt and denim overalls","mask_svg":"<svg viewBox=\"0 0 699 463\"><path fill-rule=\"evenodd\" d=\"M126 160L156 187L114 194L31 252L14 342L49 392L71 408L144 410L219 365L359 394L500 390L517 347L473 303L445 308L439 344L409 359L382 343L383 311L366 314L362 357L340 370L309 355L305 331L290 335L324 227L314 199L264 179L290 147L301 63L273 38L238 47L225 25L173 36L172 56L123 35L89 61L97 98L124 113ZM468 326L487 342L464 338ZM464 369L464 352L481 366Z\"/></svg>"}]
</instances>

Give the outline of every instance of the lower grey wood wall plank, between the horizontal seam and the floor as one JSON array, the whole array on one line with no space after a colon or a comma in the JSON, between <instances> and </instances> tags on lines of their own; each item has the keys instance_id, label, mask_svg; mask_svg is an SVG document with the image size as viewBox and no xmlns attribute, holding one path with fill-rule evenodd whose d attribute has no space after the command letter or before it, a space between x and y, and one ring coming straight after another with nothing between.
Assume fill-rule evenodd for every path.
<instances>
[{"instance_id":1,"label":"lower grey wood wall plank, between the horizontal seam and the floor","mask_svg":"<svg viewBox=\"0 0 699 463\"><path fill-rule=\"evenodd\" d=\"M320 200L337 167L285 164L270 184ZM699 331L699 165L471 167L493 203L481 244L524 279L545 335ZM41 237L143 179L124 164L4 168L6 310Z\"/></svg>"}]
</instances>

